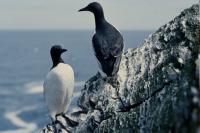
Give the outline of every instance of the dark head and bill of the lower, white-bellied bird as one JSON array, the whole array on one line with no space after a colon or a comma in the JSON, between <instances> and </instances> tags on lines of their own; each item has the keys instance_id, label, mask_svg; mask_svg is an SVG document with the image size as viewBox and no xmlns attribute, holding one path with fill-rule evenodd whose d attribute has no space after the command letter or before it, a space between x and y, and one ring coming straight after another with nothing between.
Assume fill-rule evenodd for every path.
<instances>
[{"instance_id":1,"label":"dark head and bill of the lower, white-bellied bird","mask_svg":"<svg viewBox=\"0 0 200 133\"><path fill-rule=\"evenodd\" d=\"M67 49L63 49L60 45L54 45L51 47L51 56L54 58L59 58L62 53L66 52Z\"/></svg>"}]
</instances>

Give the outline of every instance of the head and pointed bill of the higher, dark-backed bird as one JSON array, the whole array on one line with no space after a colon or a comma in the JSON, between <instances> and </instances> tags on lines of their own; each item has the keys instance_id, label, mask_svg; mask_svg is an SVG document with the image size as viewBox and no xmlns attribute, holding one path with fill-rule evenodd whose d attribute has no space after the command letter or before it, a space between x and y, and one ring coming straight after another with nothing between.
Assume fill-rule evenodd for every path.
<instances>
[{"instance_id":1,"label":"head and pointed bill of the higher, dark-backed bird","mask_svg":"<svg viewBox=\"0 0 200 133\"><path fill-rule=\"evenodd\" d=\"M79 10L79 12L81 12L81 11L90 11L94 14L97 14L99 12L102 12L103 8L98 2L92 2L88 6Z\"/></svg>"}]
</instances>

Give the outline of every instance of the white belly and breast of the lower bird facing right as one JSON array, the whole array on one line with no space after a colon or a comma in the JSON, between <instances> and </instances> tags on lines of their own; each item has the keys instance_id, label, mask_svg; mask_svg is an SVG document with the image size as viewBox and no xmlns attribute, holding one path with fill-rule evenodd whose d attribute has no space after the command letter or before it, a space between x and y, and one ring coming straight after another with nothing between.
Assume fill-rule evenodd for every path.
<instances>
[{"instance_id":1,"label":"white belly and breast of the lower bird facing right","mask_svg":"<svg viewBox=\"0 0 200 133\"><path fill-rule=\"evenodd\" d=\"M44 82L44 97L49 113L53 119L56 114L66 111L74 90L73 69L59 63L47 75Z\"/></svg>"}]
</instances>

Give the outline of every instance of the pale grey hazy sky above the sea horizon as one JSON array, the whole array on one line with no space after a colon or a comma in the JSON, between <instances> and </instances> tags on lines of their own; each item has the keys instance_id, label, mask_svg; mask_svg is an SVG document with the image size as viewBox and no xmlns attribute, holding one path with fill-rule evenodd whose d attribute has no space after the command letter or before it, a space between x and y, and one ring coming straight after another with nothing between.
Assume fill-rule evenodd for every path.
<instances>
[{"instance_id":1,"label":"pale grey hazy sky above the sea horizon","mask_svg":"<svg viewBox=\"0 0 200 133\"><path fill-rule=\"evenodd\" d=\"M154 30L199 0L96 0L108 22L121 30ZM92 0L0 0L0 30L94 29Z\"/></svg>"}]
</instances>

